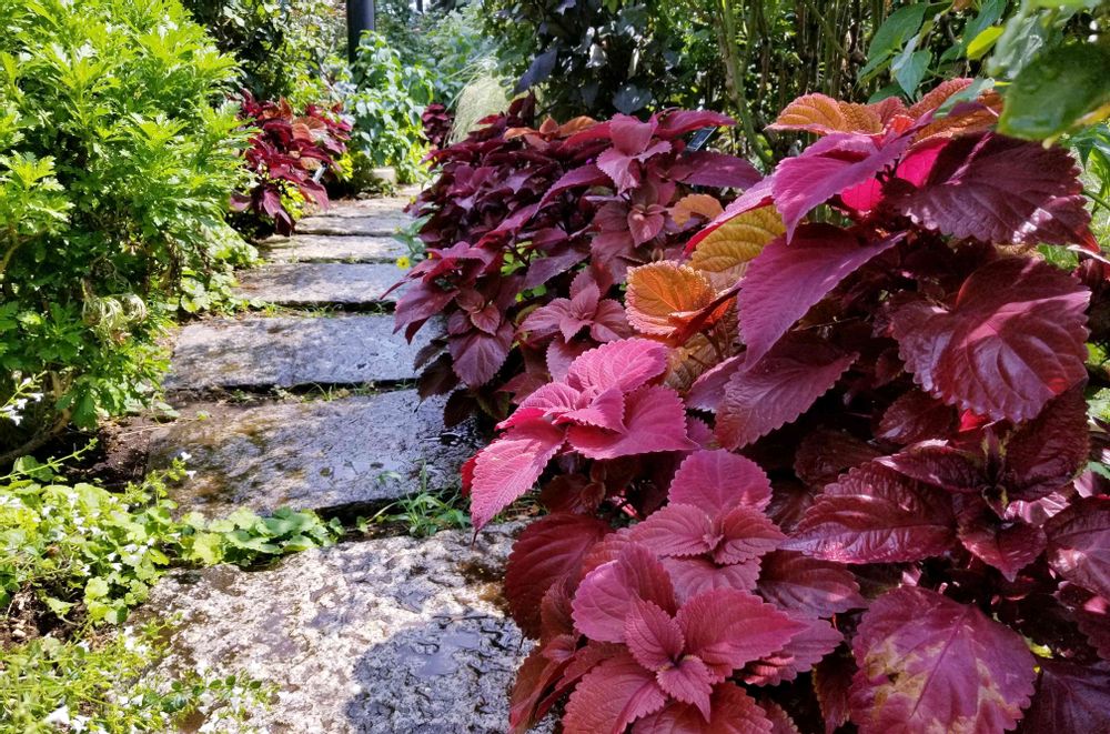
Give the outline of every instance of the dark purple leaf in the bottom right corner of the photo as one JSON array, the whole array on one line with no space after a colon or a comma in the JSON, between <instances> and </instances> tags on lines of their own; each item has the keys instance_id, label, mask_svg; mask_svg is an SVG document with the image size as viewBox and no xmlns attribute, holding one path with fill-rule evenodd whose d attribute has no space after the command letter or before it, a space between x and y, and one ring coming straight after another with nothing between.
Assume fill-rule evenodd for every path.
<instances>
[{"instance_id":1,"label":"dark purple leaf in the bottom right corner of the photo","mask_svg":"<svg viewBox=\"0 0 1110 734\"><path fill-rule=\"evenodd\" d=\"M1067 661L1038 661L1041 674L1021 731L1110 732L1110 672Z\"/></svg>"}]
</instances>

